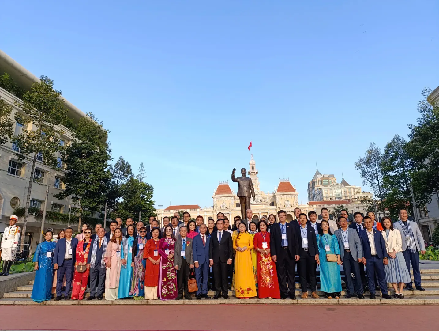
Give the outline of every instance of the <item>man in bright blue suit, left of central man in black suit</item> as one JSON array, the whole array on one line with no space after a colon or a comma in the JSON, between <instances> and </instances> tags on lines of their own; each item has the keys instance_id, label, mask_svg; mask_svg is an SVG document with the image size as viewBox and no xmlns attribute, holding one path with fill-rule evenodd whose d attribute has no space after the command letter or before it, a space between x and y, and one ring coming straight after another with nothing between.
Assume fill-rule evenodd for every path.
<instances>
[{"instance_id":1,"label":"man in bright blue suit, left of central man in black suit","mask_svg":"<svg viewBox=\"0 0 439 331\"><path fill-rule=\"evenodd\" d=\"M192 254L194 255L195 278L197 279L198 291L195 298L210 299L207 295L207 281L209 279L209 244L210 238L206 236L207 226L202 223L199 228L200 234L192 240Z\"/></svg>"}]
</instances>

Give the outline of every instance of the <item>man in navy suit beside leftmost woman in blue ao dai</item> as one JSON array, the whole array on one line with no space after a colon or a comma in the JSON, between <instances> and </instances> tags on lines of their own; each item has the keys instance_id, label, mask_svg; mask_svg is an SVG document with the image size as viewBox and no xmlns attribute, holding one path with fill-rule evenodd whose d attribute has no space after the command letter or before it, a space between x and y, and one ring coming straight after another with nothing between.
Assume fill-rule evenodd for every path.
<instances>
[{"instance_id":1,"label":"man in navy suit beside leftmost woman in blue ao dai","mask_svg":"<svg viewBox=\"0 0 439 331\"><path fill-rule=\"evenodd\" d=\"M78 239L72 238L73 229L65 230L65 238L58 239L54 252L54 269L57 270L56 298L55 301L61 300L62 283L65 275L65 292L64 300L70 299L68 293L72 285L73 273L75 272L76 246Z\"/></svg>"}]
</instances>

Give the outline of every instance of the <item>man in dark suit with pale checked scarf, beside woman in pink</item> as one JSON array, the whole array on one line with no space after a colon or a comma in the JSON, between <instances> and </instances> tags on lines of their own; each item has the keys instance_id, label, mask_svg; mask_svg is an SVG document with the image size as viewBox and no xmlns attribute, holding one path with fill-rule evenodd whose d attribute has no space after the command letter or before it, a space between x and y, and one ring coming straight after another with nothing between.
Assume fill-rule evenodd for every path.
<instances>
[{"instance_id":1,"label":"man in dark suit with pale checked scarf, beside woman in pink","mask_svg":"<svg viewBox=\"0 0 439 331\"><path fill-rule=\"evenodd\" d=\"M90 270L90 297L87 300L103 299L105 290L105 263L104 255L107 249L108 238L104 228L97 230L97 237L91 242L91 248L87 258L87 267Z\"/></svg>"}]
</instances>

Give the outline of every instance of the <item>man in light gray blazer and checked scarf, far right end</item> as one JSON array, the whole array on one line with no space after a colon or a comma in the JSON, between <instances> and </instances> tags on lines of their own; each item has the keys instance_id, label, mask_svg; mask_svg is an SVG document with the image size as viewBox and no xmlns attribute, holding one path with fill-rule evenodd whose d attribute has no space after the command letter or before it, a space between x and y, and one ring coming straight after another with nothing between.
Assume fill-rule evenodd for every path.
<instances>
[{"instance_id":1,"label":"man in light gray blazer and checked scarf, far right end","mask_svg":"<svg viewBox=\"0 0 439 331\"><path fill-rule=\"evenodd\" d=\"M421 271L419 270L419 252L425 254L425 243L421 230L415 222L408 220L407 210L401 209L398 212L399 221L393 223L393 228L398 229L403 241L403 255L406 260L407 269L410 270L410 262L413 268L414 285L418 291L425 291L421 286ZM407 290L413 290L413 282L406 283Z\"/></svg>"}]
</instances>

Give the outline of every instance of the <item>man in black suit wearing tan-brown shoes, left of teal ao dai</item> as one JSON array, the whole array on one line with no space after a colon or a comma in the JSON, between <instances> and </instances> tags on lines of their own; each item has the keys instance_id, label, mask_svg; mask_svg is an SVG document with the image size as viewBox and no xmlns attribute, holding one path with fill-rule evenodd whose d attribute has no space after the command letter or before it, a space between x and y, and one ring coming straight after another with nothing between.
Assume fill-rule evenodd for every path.
<instances>
[{"instance_id":1,"label":"man in black suit wearing tan-brown shoes, left of teal ao dai","mask_svg":"<svg viewBox=\"0 0 439 331\"><path fill-rule=\"evenodd\" d=\"M318 299L316 269L319 261L319 248L317 247L316 232L314 228L307 224L306 214L299 214L300 226L295 227L295 237L299 246L299 276L302 285L302 299L308 298L308 289L306 287L306 279L309 278L311 287L311 296Z\"/></svg>"}]
</instances>

